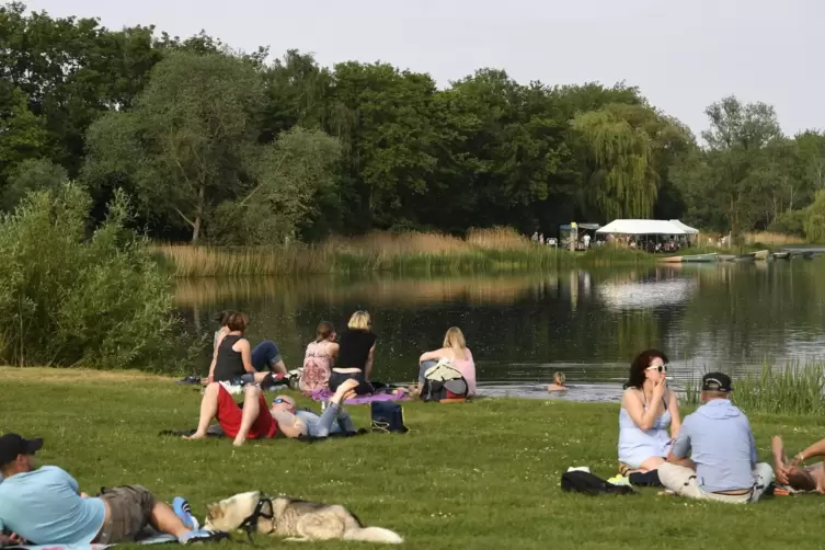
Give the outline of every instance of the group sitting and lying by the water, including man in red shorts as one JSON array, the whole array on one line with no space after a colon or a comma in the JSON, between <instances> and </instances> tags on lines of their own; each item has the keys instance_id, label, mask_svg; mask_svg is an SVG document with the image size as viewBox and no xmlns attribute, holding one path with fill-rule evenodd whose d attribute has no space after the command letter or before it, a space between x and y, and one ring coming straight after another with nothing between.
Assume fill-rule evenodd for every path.
<instances>
[{"instance_id":1,"label":"group sitting and lying by the water, including man in red shorts","mask_svg":"<svg viewBox=\"0 0 825 550\"><path fill-rule=\"evenodd\" d=\"M207 437L209 425L217 419L236 446L247 439L284 437L325 437L340 432L354 432L352 421L343 409L347 399L374 393L377 383L370 382L377 335L367 311L356 311L346 330L340 335L332 323L322 321L314 341L307 345L299 388L306 396L332 392L322 413L296 409L289 396L277 396L266 403L262 387L274 386L287 375L283 357L273 342L265 341L252 348L244 333L249 317L238 311L225 311L219 317L220 329L215 332L214 352L206 388L200 402L200 416L194 434L187 439ZM447 331L439 350L426 352L420 359L420 391L424 373L445 362L467 380L468 394L475 393L475 365L467 347L463 333L452 326ZM243 402L237 403L232 389L241 388ZM403 391L403 390L401 390Z\"/></svg>"}]
</instances>

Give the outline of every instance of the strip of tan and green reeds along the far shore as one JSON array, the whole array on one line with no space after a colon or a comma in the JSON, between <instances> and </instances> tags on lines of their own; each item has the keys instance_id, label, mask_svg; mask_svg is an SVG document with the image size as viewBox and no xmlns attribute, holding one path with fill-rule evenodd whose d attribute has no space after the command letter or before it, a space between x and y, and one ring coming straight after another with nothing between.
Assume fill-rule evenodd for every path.
<instances>
[{"instance_id":1,"label":"strip of tan and green reeds along the far shore","mask_svg":"<svg viewBox=\"0 0 825 550\"><path fill-rule=\"evenodd\" d=\"M259 248L157 245L180 277L311 273L472 274L542 271L558 266L652 265L643 252L570 252L534 244L508 229L470 231L467 239L422 232L370 233L321 244Z\"/></svg>"}]
</instances>

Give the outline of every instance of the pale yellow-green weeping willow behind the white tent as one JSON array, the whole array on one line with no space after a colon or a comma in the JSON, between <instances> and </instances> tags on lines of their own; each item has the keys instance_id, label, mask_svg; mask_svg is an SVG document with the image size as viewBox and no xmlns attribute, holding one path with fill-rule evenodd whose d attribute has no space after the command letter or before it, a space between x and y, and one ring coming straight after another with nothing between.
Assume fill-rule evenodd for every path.
<instances>
[{"instance_id":1,"label":"pale yellow-green weeping willow behind the white tent","mask_svg":"<svg viewBox=\"0 0 825 550\"><path fill-rule=\"evenodd\" d=\"M649 217L658 194L656 139L669 124L646 106L610 104L576 115L572 126L591 170L587 202L606 219Z\"/></svg>"}]
</instances>

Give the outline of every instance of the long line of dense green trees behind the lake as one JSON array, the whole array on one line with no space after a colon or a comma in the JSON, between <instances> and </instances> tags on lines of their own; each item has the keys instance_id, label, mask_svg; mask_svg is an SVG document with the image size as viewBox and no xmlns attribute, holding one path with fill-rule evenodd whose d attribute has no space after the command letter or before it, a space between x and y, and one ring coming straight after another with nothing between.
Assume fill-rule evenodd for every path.
<instances>
[{"instance_id":1,"label":"long line of dense green trees behind the lake","mask_svg":"<svg viewBox=\"0 0 825 550\"><path fill-rule=\"evenodd\" d=\"M825 240L825 134L725 98L701 140L638 88L518 83L499 69L439 89L385 62L321 67L200 33L118 31L0 7L0 207L66 181L92 224L122 190L154 239L321 240L572 220L681 218L734 236Z\"/></svg>"}]
</instances>

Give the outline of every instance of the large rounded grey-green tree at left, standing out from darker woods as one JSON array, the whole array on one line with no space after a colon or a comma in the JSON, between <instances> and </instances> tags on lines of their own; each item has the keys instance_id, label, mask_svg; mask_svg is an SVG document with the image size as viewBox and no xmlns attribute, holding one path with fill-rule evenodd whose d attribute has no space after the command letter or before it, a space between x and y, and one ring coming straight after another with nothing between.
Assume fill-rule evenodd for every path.
<instances>
[{"instance_id":1,"label":"large rounded grey-green tree at left, standing out from darker woods","mask_svg":"<svg viewBox=\"0 0 825 550\"><path fill-rule=\"evenodd\" d=\"M242 59L172 53L131 112L91 128L85 173L129 174L142 209L184 225L197 243L214 209L250 182L262 102L261 79Z\"/></svg>"}]
</instances>

